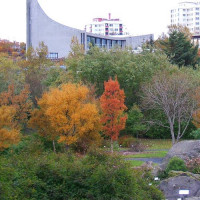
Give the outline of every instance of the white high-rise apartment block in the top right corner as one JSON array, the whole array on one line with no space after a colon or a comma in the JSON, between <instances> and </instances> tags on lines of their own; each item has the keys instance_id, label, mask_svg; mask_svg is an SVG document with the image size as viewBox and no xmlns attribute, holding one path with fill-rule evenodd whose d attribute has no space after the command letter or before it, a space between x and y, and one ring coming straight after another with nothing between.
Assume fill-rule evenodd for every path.
<instances>
[{"instance_id":1,"label":"white high-rise apartment block in the top right corner","mask_svg":"<svg viewBox=\"0 0 200 200\"><path fill-rule=\"evenodd\" d=\"M171 25L183 25L190 29L193 35L200 34L200 2L180 2L171 10Z\"/></svg>"}]
</instances>

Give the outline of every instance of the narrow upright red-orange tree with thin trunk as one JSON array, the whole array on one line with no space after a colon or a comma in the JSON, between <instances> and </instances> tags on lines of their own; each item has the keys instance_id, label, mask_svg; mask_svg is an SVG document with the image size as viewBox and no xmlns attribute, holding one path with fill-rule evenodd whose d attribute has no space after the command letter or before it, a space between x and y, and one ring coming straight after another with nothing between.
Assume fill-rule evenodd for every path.
<instances>
[{"instance_id":1,"label":"narrow upright red-orange tree with thin trunk","mask_svg":"<svg viewBox=\"0 0 200 200\"><path fill-rule=\"evenodd\" d=\"M113 152L113 141L118 139L119 133L125 128L127 115L124 111L127 107L124 104L125 94L120 89L117 78L104 82L105 91L100 98L103 115L104 133L111 139L111 152Z\"/></svg>"}]
</instances>

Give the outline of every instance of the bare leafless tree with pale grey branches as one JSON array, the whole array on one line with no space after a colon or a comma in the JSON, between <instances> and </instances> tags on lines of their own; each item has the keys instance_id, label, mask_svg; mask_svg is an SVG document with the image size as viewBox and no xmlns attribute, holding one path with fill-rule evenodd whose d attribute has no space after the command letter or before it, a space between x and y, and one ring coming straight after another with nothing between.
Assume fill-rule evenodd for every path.
<instances>
[{"instance_id":1,"label":"bare leafless tree with pale grey branches","mask_svg":"<svg viewBox=\"0 0 200 200\"><path fill-rule=\"evenodd\" d=\"M142 88L143 108L157 110L165 117L165 122L153 119L149 123L169 128L173 144L184 135L191 121L195 109L195 87L189 75L175 71L158 73Z\"/></svg>"}]
</instances>

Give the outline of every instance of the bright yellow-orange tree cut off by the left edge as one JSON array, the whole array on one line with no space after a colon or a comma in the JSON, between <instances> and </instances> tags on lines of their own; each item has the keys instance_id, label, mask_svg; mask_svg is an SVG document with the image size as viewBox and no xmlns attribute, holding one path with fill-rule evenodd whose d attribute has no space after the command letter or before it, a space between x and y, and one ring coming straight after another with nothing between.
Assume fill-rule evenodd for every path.
<instances>
[{"instance_id":1,"label":"bright yellow-orange tree cut off by the left edge","mask_svg":"<svg viewBox=\"0 0 200 200\"><path fill-rule=\"evenodd\" d=\"M19 130L13 128L16 110L13 106L0 107L0 151L20 140Z\"/></svg>"}]
</instances>

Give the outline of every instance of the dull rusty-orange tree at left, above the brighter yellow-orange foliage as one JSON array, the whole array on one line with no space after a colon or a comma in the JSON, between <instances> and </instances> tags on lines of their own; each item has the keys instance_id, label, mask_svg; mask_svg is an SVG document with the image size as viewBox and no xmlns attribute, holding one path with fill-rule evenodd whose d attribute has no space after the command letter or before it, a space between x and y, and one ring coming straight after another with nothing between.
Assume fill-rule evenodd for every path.
<instances>
[{"instance_id":1,"label":"dull rusty-orange tree at left, above the brighter yellow-orange foliage","mask_svg":"<svg viewBox=\"0 0 200 200\"><path fill-rule=\"evenodd\" d=\"M13 106L15 112L15 125L24 126L28 121L28 115L32 109L29 99L29 86L25 85L19 94L15 92L14 84L8 86L8 91L0 94L0 106Z\"/></svg>"}]
</instances>

